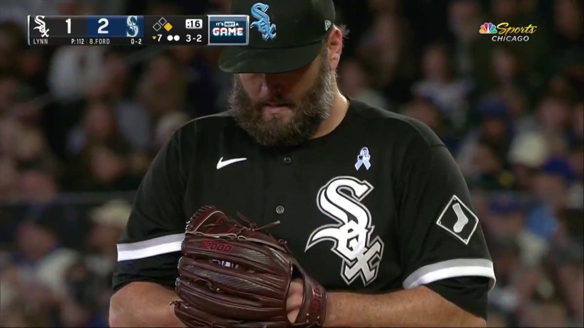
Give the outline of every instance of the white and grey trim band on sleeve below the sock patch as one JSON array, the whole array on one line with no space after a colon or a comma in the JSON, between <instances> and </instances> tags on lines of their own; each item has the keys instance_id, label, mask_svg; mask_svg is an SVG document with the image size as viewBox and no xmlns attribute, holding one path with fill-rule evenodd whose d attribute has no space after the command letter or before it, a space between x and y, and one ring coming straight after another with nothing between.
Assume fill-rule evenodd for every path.
<instances>
[{"instance_id":1,"label":"white and grey trim band on sleeve below the sock patch","mask_svg":"<svg viewBox=\"0 0 584 328\"><path fill-rule=\"evenodd\" d=\"M469 276L489 278L489 290L495 287L493 262L487 259L454 259L428 264L413 271L402 286L409 289L447 278Z\"/></svg>"}]
</instances>

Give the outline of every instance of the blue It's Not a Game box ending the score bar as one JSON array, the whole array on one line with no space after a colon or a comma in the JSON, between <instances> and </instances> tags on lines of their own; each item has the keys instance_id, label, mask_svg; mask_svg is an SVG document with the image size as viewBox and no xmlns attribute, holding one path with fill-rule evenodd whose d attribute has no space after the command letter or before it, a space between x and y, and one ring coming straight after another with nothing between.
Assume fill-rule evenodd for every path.
<instances>
[{"instance_id":1,"label":"blue It's Not a Game box ending the score bar","mask_svg":"<svg viewBox=\"0 0 584 328\"><path fill-rule=\"evenodd\" d=\"M249 16L209 15L209 44L247 46L249 44Z\"/></svg>"}]
</instances>

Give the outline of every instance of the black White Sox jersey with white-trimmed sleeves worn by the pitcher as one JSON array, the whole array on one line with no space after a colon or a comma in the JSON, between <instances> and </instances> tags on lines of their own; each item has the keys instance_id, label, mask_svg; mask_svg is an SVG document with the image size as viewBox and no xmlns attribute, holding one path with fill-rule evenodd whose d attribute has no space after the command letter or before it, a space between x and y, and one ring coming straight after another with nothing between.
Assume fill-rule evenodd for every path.
<instances>
[{"instance_id":1,"label":"black White Sox jersey with white-trimmed sleeves worn by the pitcher","mask_svg":"<svg viewBox=\"0 0 584 328\"><path fill-rule=\"evenodd\" d=\"M426 285L486 316L493 265L456 162L426 125L351 99L330 134L267 149L228 112L183 125L155 157L118 245L114 288L173 286L185 225L202 205L285 239L325 288Z\"/></svg>"}]
</instances>

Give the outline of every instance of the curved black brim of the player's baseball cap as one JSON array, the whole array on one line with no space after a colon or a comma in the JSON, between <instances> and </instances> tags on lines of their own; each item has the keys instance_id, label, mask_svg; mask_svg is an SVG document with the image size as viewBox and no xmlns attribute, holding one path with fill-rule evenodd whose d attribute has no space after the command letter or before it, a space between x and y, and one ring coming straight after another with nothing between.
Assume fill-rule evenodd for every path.
<instances>
[{"instance_id":1,"label":"curved black brim of the player's baseball cap","mask_svg":"<svg viewBox=\"0 0 584 328\"><path fill-rule=\"evenodd\" d=\"M283 73L310 64L322 48L322 42L294 48L258 49L230 46L219 58L219 68L227 73Z\"/></svg>"}]
</instances>

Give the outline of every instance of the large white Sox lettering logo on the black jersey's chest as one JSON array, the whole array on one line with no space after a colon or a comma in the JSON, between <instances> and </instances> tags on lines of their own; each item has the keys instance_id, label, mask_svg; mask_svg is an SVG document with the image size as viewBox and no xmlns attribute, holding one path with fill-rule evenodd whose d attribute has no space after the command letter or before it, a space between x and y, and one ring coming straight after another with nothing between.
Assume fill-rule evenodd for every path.
<instances>
[{"instance_id":1,"label":"large white Sox lettering logo on the black jersey's chest","mask_svg":"<svg viewBox=\"0 0 584 328\"><path fill-rule=\"evenodd\" d=\"M312 232L305 251L319 242L332 241L331 250L343 260L340 275L347 285L357 277L361 277L363 285L375 280L383 256L381 238L377 236L371 240L375 228L371 225L371 213L361 204L371 190L373 186L369 182L341 176L326 183L318 192L319 210L338 223L321 226Z\"/></svg>"}]
</instances>

